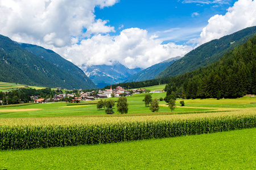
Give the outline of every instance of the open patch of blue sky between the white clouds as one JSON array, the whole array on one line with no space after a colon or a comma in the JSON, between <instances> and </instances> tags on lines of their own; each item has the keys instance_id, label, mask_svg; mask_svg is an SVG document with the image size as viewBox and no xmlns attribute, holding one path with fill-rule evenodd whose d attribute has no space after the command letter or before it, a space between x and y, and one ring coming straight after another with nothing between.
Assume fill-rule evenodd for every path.
<instances>
[{"instance_id":1,"label":"open patch of blue sky between the white clouds","mask_svg":"<svg viewBox=\"0 0 256 170\"><path fill-rule=\"evenodd\" d=\"M199 37L208 24L208 19L216 14L225 15L234 2L236 1L121 0L111 7L96 7L94 14L96 19L109 20L108 25L115 28L123 25L113 35L118 35L126 28L138 27L146 29L150 35L158 34L166 39L170 35L170 40L164 39L163 44L184 44ZM171 29L174 31L159 33ZM174 36L176 32L180 37Z\"/></svg>"}]
</instances>

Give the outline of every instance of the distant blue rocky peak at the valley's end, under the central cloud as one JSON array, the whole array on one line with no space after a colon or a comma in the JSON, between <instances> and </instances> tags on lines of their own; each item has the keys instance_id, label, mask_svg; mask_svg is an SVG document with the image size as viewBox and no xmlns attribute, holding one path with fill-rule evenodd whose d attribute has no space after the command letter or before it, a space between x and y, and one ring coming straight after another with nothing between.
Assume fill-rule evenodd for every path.
<instances>
[{"instance_id":1,"label":"distant blue rocky peak at the valley's end, under the central cloud","mask_svg":"<svg viewBox=\"0 0 256 170\"><path fill-rule=\"evenodd\" d=\"M129 69L119 62L108 65L82 65L81 69L93 80L98 87L124 82L131 75L141 71L140 68Z\"/></svg>"}]
</instances>

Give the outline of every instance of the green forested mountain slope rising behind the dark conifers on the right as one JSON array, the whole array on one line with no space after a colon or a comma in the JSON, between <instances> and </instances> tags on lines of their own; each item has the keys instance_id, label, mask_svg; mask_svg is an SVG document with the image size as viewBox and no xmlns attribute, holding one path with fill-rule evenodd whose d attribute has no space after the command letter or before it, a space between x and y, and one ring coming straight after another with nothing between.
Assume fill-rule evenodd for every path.
<instances>
[{"instance_id":1,"label":"green forested mountain slope rising behind the dark conifers on the right","mask_svg":"<svg viewBox=\"0 0 256 170\"><path fill-rule=\"evenodd\" d=\"M220 59L225 53L230 52L238 45L246 42L256 33L256 26L242 29L218 40L212 40L186 54L183 58L168 66L156 78L175 76L210 65Z\"/></svg>"}]
</instances>

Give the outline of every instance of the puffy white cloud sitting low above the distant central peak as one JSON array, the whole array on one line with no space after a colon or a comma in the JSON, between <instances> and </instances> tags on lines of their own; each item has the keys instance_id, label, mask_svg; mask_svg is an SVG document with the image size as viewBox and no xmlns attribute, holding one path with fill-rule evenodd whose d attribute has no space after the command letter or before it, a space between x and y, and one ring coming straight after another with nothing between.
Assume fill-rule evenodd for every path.
<instances>
[{"instance_id":1,"label":"puffy white cloud sitting low above the distant central peak","mask_svg":"<svg viewBox=\"0 0 256 170\"><path fill-rule=\"evenodd\" d=\"M95 35L64 51L65 58L76 65L112 65L118 61L129 68L146 68L165 59L184 56L190 46L168 43L148 36L144 29L124 29L118 36ZM72 56L72 58L71 58Z\"/></svg>"}]
</instances>

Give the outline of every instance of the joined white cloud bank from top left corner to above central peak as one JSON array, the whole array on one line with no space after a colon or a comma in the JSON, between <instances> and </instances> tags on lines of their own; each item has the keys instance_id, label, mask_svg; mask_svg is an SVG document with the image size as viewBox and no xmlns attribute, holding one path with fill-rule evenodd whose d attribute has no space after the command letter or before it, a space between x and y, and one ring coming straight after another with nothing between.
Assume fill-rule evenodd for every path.
<instances>
[{"instance_id":1,"label":"joined white cloud bank from top left corner to above central peak","mask_svg":"<svg viewBox=\"0 0 256 170\"><path fill-rule=\"evenodd\" d=\"M112 65L118 61L134 68L184 56L192 48L169 43L139 28L115 28L96 19L95 7L108 7L118 0L0 0L0 33L19 42L52 49L76 65ZM122 29L120 25L119 29Z\"/></svg>"}]
</instances>

